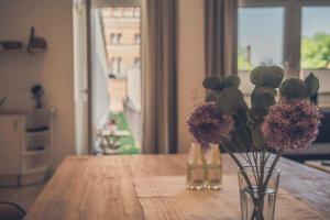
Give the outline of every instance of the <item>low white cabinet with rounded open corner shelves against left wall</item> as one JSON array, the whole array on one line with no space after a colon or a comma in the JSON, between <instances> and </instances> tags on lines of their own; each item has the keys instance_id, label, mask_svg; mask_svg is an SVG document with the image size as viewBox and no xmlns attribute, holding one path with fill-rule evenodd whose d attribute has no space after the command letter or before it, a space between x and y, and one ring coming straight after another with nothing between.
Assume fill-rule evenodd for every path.
<instances>
[{"instance_id":1,"label":"low white cabinet with rounded open corner shelves against left wall","mask_svg":"<svg viewBox=\"0 0 330 220\"><path fill-rule=\"evenodd\" d=\"M53 111L0 111L0 186L44 180L52 161Z\"/></svg>"}]
</instances>

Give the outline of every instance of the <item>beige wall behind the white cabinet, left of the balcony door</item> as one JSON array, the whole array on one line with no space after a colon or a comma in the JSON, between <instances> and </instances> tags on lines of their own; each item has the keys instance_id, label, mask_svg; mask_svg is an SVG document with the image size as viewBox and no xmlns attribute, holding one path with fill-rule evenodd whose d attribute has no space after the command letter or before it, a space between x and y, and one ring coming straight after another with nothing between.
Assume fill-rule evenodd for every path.
<instances>
[{"instance_id":1,"label":"beige wall behind the white cabinet, left of the balcony door","mask_svg":"<svg viewBox=\"0 0 330 220\"><path fill-rule=\"evenodd\" d=\"M42 54L25 51L30 28L46 38ZM72 0L1 0L0 41L23 41L24 50L0 51L0 97L4 108L32 109L30 88L42 84L48 108L56 110L54 165L75 153Z\"/></svg>"}]
</instances>

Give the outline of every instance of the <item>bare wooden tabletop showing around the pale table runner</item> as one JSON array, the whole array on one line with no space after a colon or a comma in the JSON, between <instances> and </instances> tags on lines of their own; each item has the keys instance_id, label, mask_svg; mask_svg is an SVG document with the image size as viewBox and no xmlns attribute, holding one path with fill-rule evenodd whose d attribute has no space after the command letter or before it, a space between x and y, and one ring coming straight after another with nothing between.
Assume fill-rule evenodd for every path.
<instances>
[{"instance_id":1,"label":"bare wooden tabletop showing around the pale table runner","mask_svg":"<svg viewBox=\"0 0 330 220\"><path fill-rule=\"evenodd\" d=\"M330 175L280 158L280 187L316 210L330 212ZM235 175L223 154L224 175ZM133 177L185 175L185 155L72 156L32 206L28 220L144 219Z\"/></svg>"}]
</instances>

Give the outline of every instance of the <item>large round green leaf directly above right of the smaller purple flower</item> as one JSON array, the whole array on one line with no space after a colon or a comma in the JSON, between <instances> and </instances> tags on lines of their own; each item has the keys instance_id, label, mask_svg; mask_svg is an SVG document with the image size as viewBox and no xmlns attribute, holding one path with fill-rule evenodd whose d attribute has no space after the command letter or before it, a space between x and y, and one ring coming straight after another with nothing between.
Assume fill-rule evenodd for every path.
<instances>
[{"instance_id":1,"label":"large round green leaf directly above right of the smaller purple flower","mask_svg":"<svg viewBox=\"0 0 330 220\"><path fill-rule=\"evenodd\" d=\"M235 87L224 88L217 101L219 110L224 114L235 114L240 107L244 103L243 94Z\"/></svg>"}]
</instances>

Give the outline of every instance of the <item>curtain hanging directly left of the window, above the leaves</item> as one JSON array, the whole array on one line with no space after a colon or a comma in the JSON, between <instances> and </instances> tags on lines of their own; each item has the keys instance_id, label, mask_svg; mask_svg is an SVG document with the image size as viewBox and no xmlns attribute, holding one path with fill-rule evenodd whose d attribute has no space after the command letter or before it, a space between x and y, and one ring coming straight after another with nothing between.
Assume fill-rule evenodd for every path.
<instances>
[{"instance_id":1,"label":"curtain hanging directly left of the window, above the leaves","mask_svg":"<svg viewBox=\"0 0 330 220\"><path fill-rule=\"evenodd\" d=\"M238 0L205 0L207 76L238 73Z\"/></svg>"}]
</instances>

